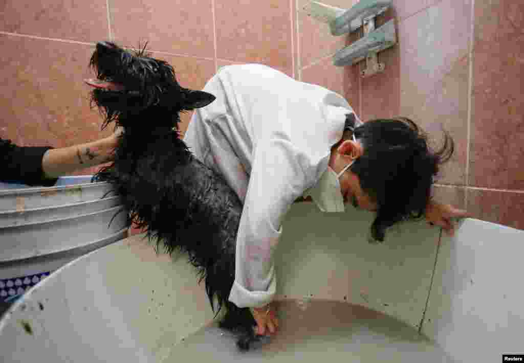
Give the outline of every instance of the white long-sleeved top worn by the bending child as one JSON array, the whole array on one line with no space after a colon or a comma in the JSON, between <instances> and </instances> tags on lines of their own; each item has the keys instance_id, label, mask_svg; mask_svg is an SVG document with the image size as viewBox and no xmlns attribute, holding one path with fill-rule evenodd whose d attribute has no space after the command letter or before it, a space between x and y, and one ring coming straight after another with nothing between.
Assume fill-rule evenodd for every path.
<instances>
[{"instance_id":1,"label":"white long-sleeved top worn by the bending child","mask_svg":"<svg viewBox=\"0 0 524 363\"><path fill-rule=\"evenodd\" d=\"M263 306L276 292L272 255L281 221L328 168L345 115L354 111L339 94L261 64L224 67L203 91L216 100L195 110L184 141L244 203L229 300Z\"/></svg>"}]
</instances>

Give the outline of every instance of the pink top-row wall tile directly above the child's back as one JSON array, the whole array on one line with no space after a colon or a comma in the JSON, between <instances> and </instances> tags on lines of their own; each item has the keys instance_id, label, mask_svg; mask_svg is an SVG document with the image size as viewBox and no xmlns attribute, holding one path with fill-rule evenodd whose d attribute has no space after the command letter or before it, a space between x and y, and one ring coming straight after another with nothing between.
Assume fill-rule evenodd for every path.
<instances>
[{"instance_id":1,"label":"pink top-row wall tile directly above the child's back","mask_svg":"<svg viewBox=\"0 0 524 363\"><path fill-rule=\"evenodd\" d=\"M293 76L289 1L215 0L217 58L256 62Z\"/></svg>"}]
</instances>

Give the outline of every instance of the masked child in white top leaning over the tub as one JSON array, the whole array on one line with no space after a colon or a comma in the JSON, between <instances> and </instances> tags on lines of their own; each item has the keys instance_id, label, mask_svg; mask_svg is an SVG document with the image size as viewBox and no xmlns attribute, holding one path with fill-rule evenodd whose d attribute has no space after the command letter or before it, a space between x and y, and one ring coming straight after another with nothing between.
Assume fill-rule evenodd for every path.
<instances>
[{"instance_id":1,"label":"masked child in white top leaning over the tub","mask_svg":"<svg viewBox=\"0 0 524 363\"><path fill-rule=\"evenodd\" d=\"M379 241L387 227L421 216L453 234L451 218L467 215L430 197L453 153L447 135L432 152L411 120L362 123L340 95L260 64L224 67L203 91L216 100L194 112L184 142L242 200L229 299L251 308L260 335L278 328L272 254L297 198L311 196L325 212L345 203L376 212Z\"/></svg>"}]
</instances>

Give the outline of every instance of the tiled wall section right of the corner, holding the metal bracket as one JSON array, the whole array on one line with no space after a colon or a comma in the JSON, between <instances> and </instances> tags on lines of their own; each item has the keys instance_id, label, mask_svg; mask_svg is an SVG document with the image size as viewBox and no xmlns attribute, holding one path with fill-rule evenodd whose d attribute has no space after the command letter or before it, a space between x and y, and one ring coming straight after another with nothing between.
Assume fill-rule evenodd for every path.
<instances>
[{"instance_id":1,"label":"tiled wall section right of the corner, holding the metal bracket","mask_svg":"<svg viewBox=\"0 0 524 363\"><path fill-rule=\"evenodd\" d=\"M308 0L297 0L297 8ZM321 0L348 8L358 0ZM441 145L455 141L436 199L473 217L524 229L524 2L392 0L398 44L379 54L383 74L364 64L337 68L332 54L354 40L297 14L298 79L343 92L363 120L406 116ZM360 35L357 35L358 37Z\"/></svg>"}]
</instances>

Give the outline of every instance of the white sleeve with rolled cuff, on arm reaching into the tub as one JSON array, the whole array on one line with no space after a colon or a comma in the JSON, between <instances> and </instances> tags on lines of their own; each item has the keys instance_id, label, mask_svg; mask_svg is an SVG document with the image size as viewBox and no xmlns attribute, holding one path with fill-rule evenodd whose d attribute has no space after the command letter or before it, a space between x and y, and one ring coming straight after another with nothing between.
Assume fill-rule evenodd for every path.
<instances>
[{"instance_id":1,"label":"white sleeve with rolled cuff, on arm reaching into the tub","mask_svg":"<svg viewBox=\"0 0 524 363\"><path fill-rule=\"evenodd\" d=\"M238 307L268 304L276 293L273 255L281 222L301 195L304 173L287 140L259 143L236 241L235 281L229 300Z\"/></svg>"}]
</instances>

